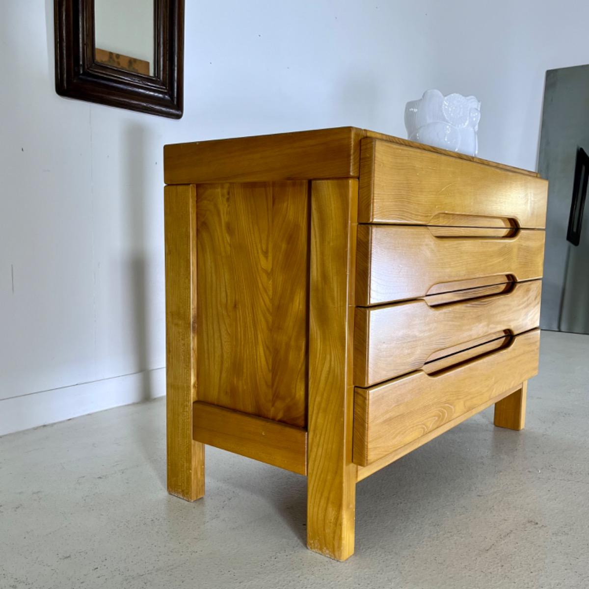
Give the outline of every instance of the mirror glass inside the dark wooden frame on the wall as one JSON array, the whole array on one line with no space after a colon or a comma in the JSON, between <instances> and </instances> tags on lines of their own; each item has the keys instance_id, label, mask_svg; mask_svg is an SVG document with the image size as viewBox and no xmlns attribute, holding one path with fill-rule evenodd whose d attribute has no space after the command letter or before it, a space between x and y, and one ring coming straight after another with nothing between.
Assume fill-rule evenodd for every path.
<instances>
[{"instance_id":1,"label":"mirror glass inside the dark wooden frame on the wall","mask_svg":"<svg viewBox=\"0 0 589 589\"><path fill-rule=\"evenodd\" d=\"M154 75L154 0L94 0L95 60Z\"/></svg>"}]
</instances>

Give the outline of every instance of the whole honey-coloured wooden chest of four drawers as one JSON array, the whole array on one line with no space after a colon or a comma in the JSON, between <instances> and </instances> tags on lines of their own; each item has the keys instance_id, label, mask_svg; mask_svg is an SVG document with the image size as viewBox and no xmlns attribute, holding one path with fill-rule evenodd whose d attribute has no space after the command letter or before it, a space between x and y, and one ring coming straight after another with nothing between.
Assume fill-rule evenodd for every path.
<instances>
[{"instance_id":1,"label":"whole honey-coloured wooden chest of four drawers","mask_svg":"<svg viewBox=\"0 0 589 589\"><path fill-rule=\"evenodd\" d=\"M164 149L168 489L204 445L307 477L307 545L355 485L537 373L547 183L346 127Z\"/></svg>"}]
</instances>

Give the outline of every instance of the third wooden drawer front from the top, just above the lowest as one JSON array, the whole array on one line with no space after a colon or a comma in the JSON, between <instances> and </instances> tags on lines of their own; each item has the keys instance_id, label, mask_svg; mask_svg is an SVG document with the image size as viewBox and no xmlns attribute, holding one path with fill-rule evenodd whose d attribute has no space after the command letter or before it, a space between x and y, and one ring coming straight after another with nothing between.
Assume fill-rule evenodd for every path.
<instances>
[{"instance_id":1,"label":"third wooden drawer front from the top, just above the lowest","mask_svg":"<svg viewBox=\"0 0 589 589\"><path fill-rule=\"evenodd\" d=\"M518 282L503 294L431 307L417 299L356 308L354 384L370 386L422 368L443 350L509 330L540 325L540 280ZM471 343L472 345L472 343ZM441 353L442 352L442 353Z\"/></svg>"}]
</instances>

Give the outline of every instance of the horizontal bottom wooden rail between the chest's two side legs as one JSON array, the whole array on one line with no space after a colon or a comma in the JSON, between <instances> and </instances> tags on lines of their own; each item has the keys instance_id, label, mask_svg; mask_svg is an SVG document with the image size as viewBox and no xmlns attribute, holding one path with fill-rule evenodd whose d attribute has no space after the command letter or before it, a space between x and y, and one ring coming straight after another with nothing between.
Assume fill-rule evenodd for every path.
<instances>
[{"instance_id":1,"label":"horizontal bottom wooden rail between the chest's two side legs","mask_svg":"<svg viewBox=\"0 0 589 589\"><path fill-rule=\"evenodd\" d=\"M193 404L193 437L203 444L307 474L307 432L302 428L197 401Z\"/></svg>"}]
</instances>

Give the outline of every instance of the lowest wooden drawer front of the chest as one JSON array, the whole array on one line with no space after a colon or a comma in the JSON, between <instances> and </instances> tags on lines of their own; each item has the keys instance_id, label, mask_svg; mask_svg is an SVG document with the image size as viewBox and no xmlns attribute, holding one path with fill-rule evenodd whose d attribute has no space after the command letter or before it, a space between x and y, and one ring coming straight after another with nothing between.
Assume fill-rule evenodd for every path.
<instances>
[{"instance_id":1,"label":"lowest wooden drawer front of the chest","mask_svg":"<svg viewBox=\"0 0 589 589\"><path fill-rule=\"evenodd\" d=\"M484 406L538 372L540 330L438 375L422 370L355 389L353 461L366 466Z\"/></svg>"}]
</instances>

